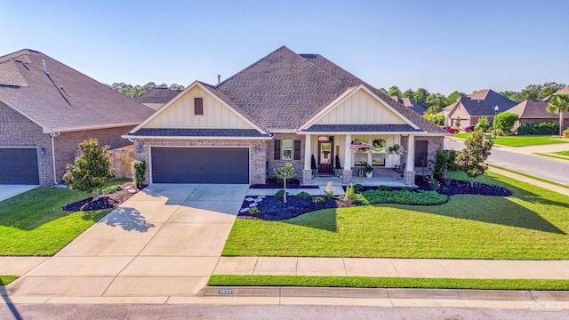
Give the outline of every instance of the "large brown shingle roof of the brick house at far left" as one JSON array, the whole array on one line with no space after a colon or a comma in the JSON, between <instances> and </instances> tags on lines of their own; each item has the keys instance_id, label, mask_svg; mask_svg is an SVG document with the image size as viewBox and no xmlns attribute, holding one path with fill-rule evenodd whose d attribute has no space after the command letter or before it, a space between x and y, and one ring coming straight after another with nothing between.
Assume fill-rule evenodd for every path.
<instances>
[{"instance_id":1,"label":"large brown shingle roof of the brick house at far left","mask_svg":"<svg viewBox=\"0 0 569 320\"><path fill-rule=\"evenodd\" d=\"M44 132L135 125L154 112L107 84L28 49L0 57L0 100Z\"/></svg>"}]
</instances>

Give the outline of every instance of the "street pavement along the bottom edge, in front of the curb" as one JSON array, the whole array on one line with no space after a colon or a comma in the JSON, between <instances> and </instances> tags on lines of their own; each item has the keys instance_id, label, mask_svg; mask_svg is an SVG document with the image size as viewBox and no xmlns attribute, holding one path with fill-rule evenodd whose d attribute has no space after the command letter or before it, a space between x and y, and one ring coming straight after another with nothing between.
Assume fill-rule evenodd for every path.
<instances>
[{"instance_id":1,"label":"street pavement along the bottom edge, in front of the curb","mask_svg":"<svg viewBox=\"0 0 569 320\"><path fill-rule=\"evenodd\" d=\"M252 298L254 301L254 298ZM565 318L566 310L529 308L382 308L341 306L204 306L204 305L0 305L0 319L545 319ZM12 312L15 313L12 314ZM553 313L553 314L552 314ZM548 317L549 316L549 317ZM555 316L555 317L551 317Z\"/></svg>"}]
</instances>

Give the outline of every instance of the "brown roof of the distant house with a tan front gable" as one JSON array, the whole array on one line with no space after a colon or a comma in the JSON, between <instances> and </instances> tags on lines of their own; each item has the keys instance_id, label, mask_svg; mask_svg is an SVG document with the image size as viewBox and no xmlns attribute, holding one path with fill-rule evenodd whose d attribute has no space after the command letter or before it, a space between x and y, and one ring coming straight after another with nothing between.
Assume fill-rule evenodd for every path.
<instances>
[{"instance_id":1,"label":"brown roof of the distant house with a tan front gable","mask_svg":"<svg viewBox=\"0 0 569 320\"><path fill-rule=\"evenodd\" d=\"M490 89L473 92L469 97L460 98L453 104L444 108L453 112L461 104L470 116L493 116L494 107L498 106L499 111L508 111L516 105L516 101L509 100L498 92Z\"/></svg>"}]
</instances>

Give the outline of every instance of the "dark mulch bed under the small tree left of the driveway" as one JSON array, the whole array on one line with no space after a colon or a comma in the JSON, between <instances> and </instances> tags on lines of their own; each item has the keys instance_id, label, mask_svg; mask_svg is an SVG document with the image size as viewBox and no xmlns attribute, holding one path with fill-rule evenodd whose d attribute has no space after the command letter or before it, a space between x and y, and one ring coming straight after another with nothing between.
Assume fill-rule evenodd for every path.
<instances>
[{"instance_id":1,"label":"dark mulch bed under the small tree left of the driveway","mask_svg":"<svg viewBox=\"0 0 569 320\"><path fill-rule=\"evenodd\" d=\"M132 193L126 187L130 187L130 189L135 190L136 192ZM92 197L90 197L76 201L74 203L65 204L63 206L63 210L68 212L78 212L78 211L85 212L85 211L116 208L120 204L123 204L124 201L130 199L132 196L134 196L137 192L139 192L143 188L146 188L146 186L142 186L139 189L136 188L132 183L126 183L123 185L123 189L110 194L100 195L99 198L97 199L93 199Z\"/></svg>"}]
</instances>

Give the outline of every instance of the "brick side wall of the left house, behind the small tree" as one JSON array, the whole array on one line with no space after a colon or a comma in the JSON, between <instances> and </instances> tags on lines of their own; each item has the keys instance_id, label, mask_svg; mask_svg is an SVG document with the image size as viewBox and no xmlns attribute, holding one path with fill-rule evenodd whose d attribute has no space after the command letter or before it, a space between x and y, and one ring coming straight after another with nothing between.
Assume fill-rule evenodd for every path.
<instances>
[{"instance_id":1,"label":"brick side wall of the left house, behind the small tree","mask_svg":"<svg viewBox=\"0 0 569 320\"><path fill-rule=\"evenodd\" d=\"M89 139L99 140L99 146L121 148L132 144L131 141L121 138L121 135L131 131L133 126L124 126L109 129L89 130L82 132L64 132L55 137L55 171L57 182L61 182L68 164L73 164L77 156L76 150L79 142Z\"/></svg>"}]
</instances>

